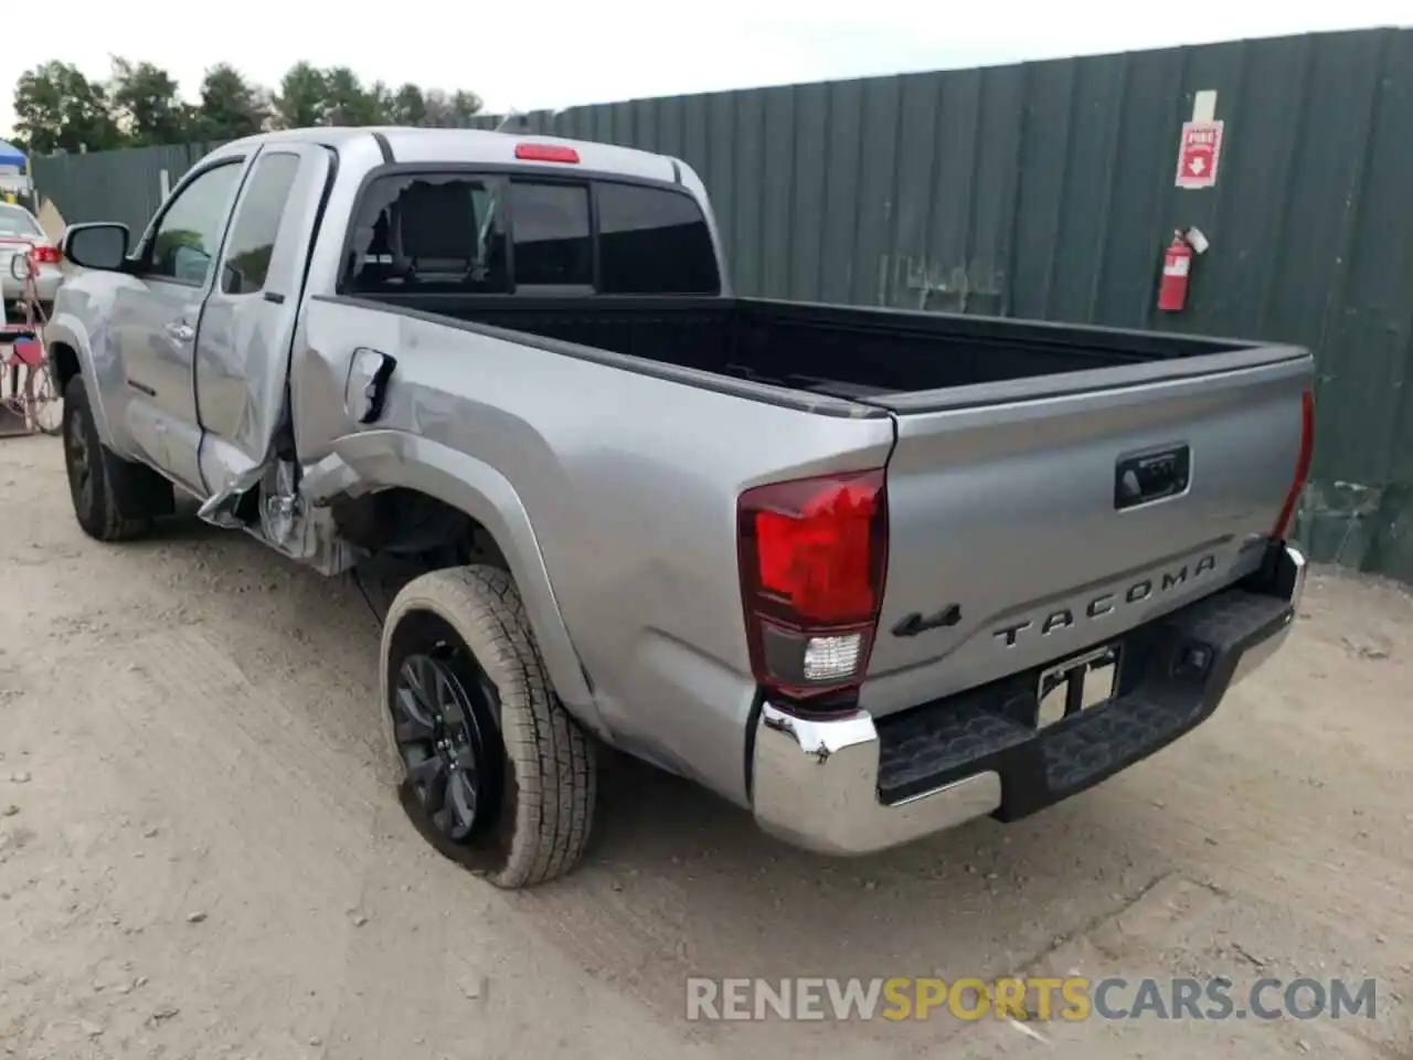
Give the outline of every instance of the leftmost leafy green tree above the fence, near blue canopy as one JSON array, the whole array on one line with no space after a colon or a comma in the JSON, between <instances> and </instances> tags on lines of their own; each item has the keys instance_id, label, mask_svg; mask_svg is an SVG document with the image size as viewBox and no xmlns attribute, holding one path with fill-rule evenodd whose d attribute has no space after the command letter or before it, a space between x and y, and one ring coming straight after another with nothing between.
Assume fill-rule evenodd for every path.
<instances>
[{"instance_id":1,"label":"leftmost leafy green tree above the fence, near blue canopy","mask_svg":"<svg viewBox=\"0 0 1413 1060\"><path fill-rule=\"evenodd\" d=\"M14 86L16 133L30 151L105 151L124 137L112 100L71 62L44 62L20 75Z\"/></svg>"}]
</instances>

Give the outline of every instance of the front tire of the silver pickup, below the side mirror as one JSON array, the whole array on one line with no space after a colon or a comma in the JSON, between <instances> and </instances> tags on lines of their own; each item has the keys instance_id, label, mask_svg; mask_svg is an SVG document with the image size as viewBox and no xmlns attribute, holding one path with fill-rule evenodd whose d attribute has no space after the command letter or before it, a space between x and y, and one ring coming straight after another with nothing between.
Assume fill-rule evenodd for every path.
<instances>
[{"instance_id":1,"label":"front tire of the silver pickup, below the side mirror","mask_svg":"<svg viewBox=\"0 0 1413 1060\"><path fill-rule=\"evenodd\" d=\"M73 514L99 541L146 534L153 519L172 510L172 488L151 468L114 455L97 437L83 376L64 387L64 466Z\"/></svg>"}]
</instances>

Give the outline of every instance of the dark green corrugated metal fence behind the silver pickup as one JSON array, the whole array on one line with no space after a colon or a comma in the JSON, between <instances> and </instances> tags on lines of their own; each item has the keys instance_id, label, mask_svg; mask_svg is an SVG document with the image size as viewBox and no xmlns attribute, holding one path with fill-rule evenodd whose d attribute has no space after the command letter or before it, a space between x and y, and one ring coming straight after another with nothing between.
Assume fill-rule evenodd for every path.
<instances>
[{"instance_id":1,"label":"dark green corrugated metal fence behind the silver pickup","mask_svg":"<svg viewBox=\"0 0 1413 1060\"><path fill-rule=\"evenodd\" d=\"M1174 187L1215 92L1219 178ZM497 119L482 119L490 127ZM674 154L745 294L1307 345L1318 445L1300 534L1413 579L1413 31L1372 30L644 99L534 131ZM73 220L140 226L202 148L40 158ZM1159 314L1163 247L1211 249Z\"/></svg>"}]
</instances>

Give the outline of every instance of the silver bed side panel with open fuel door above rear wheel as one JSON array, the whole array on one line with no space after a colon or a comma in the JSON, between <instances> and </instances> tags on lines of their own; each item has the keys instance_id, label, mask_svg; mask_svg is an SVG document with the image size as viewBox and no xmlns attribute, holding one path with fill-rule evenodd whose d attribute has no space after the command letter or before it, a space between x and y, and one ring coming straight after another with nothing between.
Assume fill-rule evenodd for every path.
<instances>
[{"instance_id":1,"label":"silver bed side panel with open fuel door above rear wheel","mask_svg":"<svg viewBox=\"0 0 1413 1060\"><path fill-rule=\"evenodd\" d=\"M736 497L763 481L882 466L892 421L743 400L348 300L312 300L305 328L301 461L333 455L357 490L421 489L482 522L567 705L743 803L755 680ZM343 396L360 346L397 362L366 427Z\"/></svg>"}]
</instances>

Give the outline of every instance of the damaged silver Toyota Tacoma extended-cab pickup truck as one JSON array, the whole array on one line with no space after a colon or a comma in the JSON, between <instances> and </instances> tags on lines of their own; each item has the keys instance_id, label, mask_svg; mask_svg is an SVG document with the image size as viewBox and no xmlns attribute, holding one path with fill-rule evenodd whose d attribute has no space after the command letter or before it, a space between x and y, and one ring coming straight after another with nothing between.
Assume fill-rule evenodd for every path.
<instances>
[{"instance_id":1,"label":"damaged silver Toyota Tacoma extended-cab pickup truck","mask_svg":"<svg viewBox=\"0 0 1413 1060\"><path fill-rule=\"evenodd\" d=\"M400 570L390 772L500 886L575 864L605 743L831 854L1030 814L1204 721L1299 606L1306 351L738 298L675 158L274 133L64 253L79 524L175 488Z\"/></svg>"}]
</instances>

